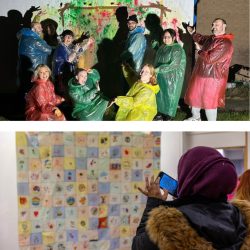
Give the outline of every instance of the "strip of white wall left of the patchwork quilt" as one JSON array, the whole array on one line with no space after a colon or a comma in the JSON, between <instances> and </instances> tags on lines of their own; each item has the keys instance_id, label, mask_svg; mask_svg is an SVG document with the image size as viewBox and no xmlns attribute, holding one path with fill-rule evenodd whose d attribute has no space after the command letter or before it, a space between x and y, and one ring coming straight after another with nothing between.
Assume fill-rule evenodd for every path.
<instances>
[{"instance_id":1,"label":"strip of white wall left of the patchwork quilt","mask_svg":"<svg viewBox=\"0 0 250 250\"><path fill-rule=\"evenodd\" d=\"M0 249L17 250L18 217L15 132L0 132Z\"/></svg>"}]
</instances>

